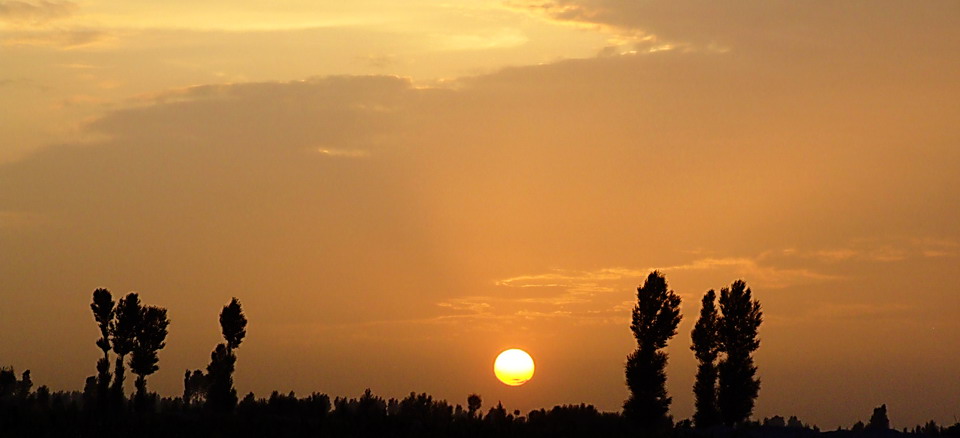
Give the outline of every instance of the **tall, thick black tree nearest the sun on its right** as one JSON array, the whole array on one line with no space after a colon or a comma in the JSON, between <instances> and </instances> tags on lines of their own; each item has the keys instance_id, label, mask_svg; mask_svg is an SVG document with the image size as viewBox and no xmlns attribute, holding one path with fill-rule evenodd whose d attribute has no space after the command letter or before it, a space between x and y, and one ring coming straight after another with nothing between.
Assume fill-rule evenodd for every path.
<instances>
[{"instance_id":1,"label":"tall, thick black tree nearest the sun on its right","mask_svg":"<svg viewBox=\"0 0 960 438\"><path fill-rule=\"evenodd\" d=\"M663 274L651 272L643 286L637 288L637 304L630 324L637 349L627 356L625 369L630 396L623 404L623 413L642 429L662 430L670 426L667 353L660 350L677 334L680 319L680 297L667 289Z\"/></svg>"}]
</instances>

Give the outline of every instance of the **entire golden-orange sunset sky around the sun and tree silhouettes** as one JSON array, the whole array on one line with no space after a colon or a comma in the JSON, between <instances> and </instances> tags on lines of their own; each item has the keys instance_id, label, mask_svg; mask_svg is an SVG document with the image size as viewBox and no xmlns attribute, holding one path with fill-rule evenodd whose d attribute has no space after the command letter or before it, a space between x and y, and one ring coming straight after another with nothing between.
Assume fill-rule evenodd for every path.
<instances>
[{"instance_id":1,"label":"entire golden-orange sunset sky around the sun and tree silhouettes","mask_svg":"<svg viewBox=\"0 0 960 438\"><path fill-rule=\"evenodd\" d=\"M619 410L742 278L754 418L960 416L960 1L0 0L0 365L82 389L95 288L171 318L163 395ZM523 348L507 387L493 360ZM128 382L128 392L132 382Z\"/></svg>"}]
</instances>

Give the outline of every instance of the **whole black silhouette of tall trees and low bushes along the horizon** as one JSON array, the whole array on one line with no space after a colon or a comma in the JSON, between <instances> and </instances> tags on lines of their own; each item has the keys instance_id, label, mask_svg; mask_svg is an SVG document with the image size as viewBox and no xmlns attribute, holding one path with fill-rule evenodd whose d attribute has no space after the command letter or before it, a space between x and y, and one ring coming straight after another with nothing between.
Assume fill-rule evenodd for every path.
<instances>
[{"instance_id":1,"label":"whole black silhouette of tall trees and low bushes along the horizon","mask_svg":"<svg viewBox=\"0 0 960 438\"><path fill-rule=\"evenodd\" d=\"M90 304L102 352L96 374L82 392L33 390L30 371L20 378L0 368L0 436L644 436L733 438L735 436L804 438L820 434L796 417L752 421L760 379L753 353L760 346L763 313L759 300L742 280L708 290L691 336L697 360L692 419L674 422L666 391L665 351L682 319L680 296L665 276L651 272L637 288L630 330L637 346L624 367L629 396L621 412L600 412L591 405L562 405L509 412L501 403L482 410L471 394L465 405L449 404L426 393L383 399L369 389L357 398L313 393L297 397L274 391L267 398L252 392L238 398L233 384L237 349L246 336L247 319L240 301L223 306L223 342L210 353L205 368L186 370L183 394L160 397L148 391L147 378L159 369L170 320L162 307L145 305L131 292L114 301L96 289ZM111 363L113 366L111 367ZM127 368L136 375L135 391L124 392ZM934 422L912 431L923 436L960 437L960 423ZM839 438L888 436L886 405L867 424L838 429Z\"/></svg>"}]
</instances>

